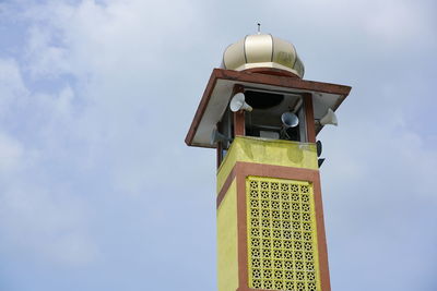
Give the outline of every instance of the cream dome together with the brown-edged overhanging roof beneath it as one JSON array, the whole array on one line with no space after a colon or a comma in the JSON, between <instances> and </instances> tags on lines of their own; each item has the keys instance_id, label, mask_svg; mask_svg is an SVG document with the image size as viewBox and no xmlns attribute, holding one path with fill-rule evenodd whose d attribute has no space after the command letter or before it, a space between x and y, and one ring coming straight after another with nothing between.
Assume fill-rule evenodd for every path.
<instances>
[{"instance_id":1,"label":"cream dome together with the brown-edged overhanging roof beneath it","mask_svg":"<svg viewBox=\"0 0 437 291\"><path fill-rule=\"evenodd\" d=\"M247 89L310 95L314 119L335 111L350 86L303 80L304 63L295 47L268 34L249 35L228 46L221 69L214 69L186 136L189 146L215 147L211 134L222 119L236 85ZM316 134L323 125L316 126Z\"/></svg>"}]
</instances>

